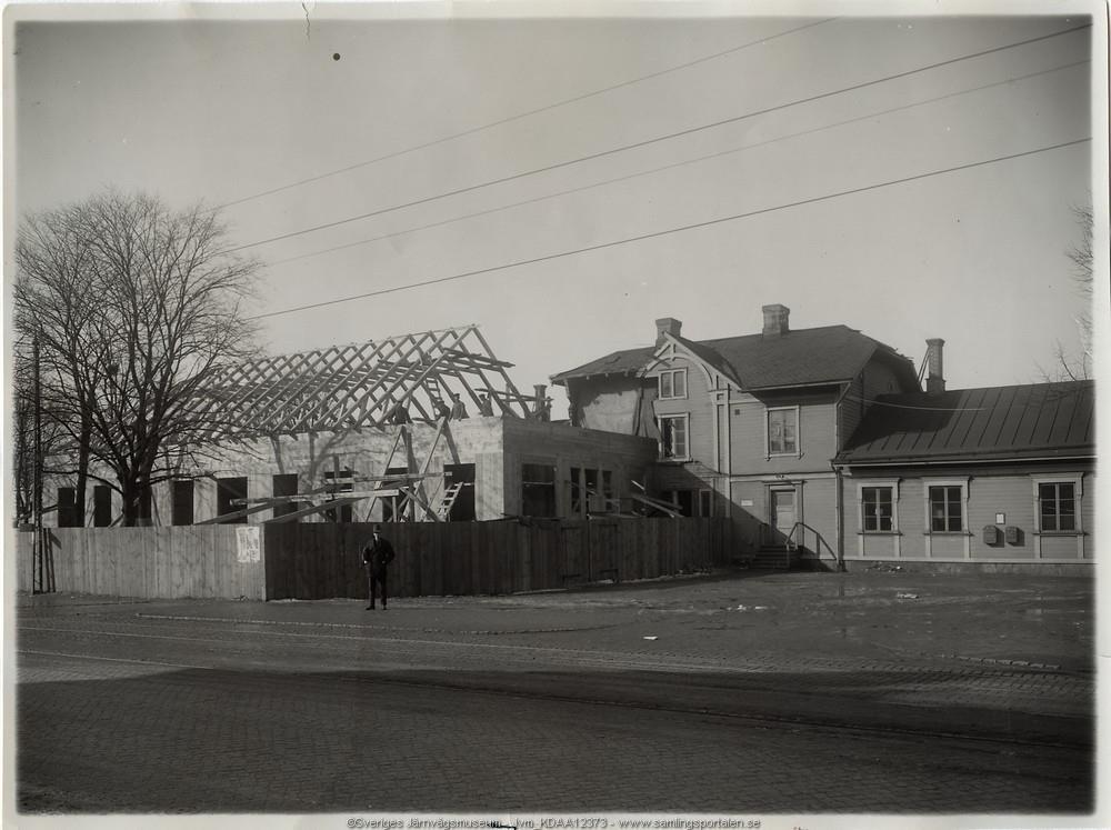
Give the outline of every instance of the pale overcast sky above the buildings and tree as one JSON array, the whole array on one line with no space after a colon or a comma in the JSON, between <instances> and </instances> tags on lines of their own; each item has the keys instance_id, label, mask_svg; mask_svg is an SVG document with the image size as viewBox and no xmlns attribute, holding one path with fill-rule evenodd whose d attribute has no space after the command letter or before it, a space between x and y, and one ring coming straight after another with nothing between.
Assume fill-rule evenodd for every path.
<instances>
[{"instance_id":1,"label":"pale overcast sky above the buildings and tree","mask_svg":"<svg viewBox=\"0 0 1111 830\"><path fill-rule=\"evenodd\" d=\"M745 334L772 302L915 364L944 338L950 388L1032 382L1057 341L1078 348L1065 254L1104 147L1083 141L1100 21L381 8L20 23L9 217L108 186L227 206L231 244L266 263L260 314L658 234L264 320L271 352L476 322L526 390L651 342L655 318Z\"/></svg>"}]
</instances>

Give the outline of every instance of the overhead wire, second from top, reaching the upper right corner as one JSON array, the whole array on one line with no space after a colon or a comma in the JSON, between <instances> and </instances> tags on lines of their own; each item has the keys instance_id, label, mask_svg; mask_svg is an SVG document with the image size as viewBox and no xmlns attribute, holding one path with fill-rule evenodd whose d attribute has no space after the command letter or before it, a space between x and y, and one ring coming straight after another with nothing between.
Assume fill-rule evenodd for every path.
<instances>
[{"instance_id":1,"label":"overhead wire, second from top, reaching the upper right corner","mask_svg":"<svg viewBox=\"0 0 1111 830\"><path fill-rule=\"evenodd\" d=\"M327 230L329 228L336 228L336 227L341 226L341 224L349 224L350 222L356 222L356 221L359 221L359 220L362 220L362 219L369 219L371 217L381 216L383 213L390 213L390 212L392 212L394 210L401 210L403 208L412 208L412 207L416 207L418 204L424 204L427 202L436 201L438 199L446 199L446 198L451 197L451 196L459 196L461 193L468 193L468 192L470 192L472 190L479 190L481 188L490 187L492 184L503 184L506 182L513 181L516 179L522 179L522 178L524 178L527 176L534 176L536 173L542 173L542 172L548 172L548 171L551 171L551 170L558 170L560 168L569 167L571 164L578 164L578 163L583 162L583 161L591 161L591 160L594 160L594 159L604 158L607 156L613 156L614 153L624 152L625 150L634 150L634 149L638 149L638 148L641 148L641 147L648 147L649 144L658 143L660 141L667 141L667 140L670 140L670 139L673 139L673 138L680 138L682 136L690 136L690 134L695 133L695 132L701 132L703 130L710 130L710 129L713 129L715 127L722 127L722 126L728 124L728 123L734 123L737 121L743 121L743 120L749 119L749 118L755 118L757 116L764 116L764 114L768 114L769 112L777 112L779 110L783 110L783 109L787 109L789 107L798 107L798 106L803 104L803 103L812 103L814 101L820 101L820 100L825 99L825 98L832 98L833 96L844 94L845 92L854 92L857 90L865 89L868 87L874 87L878 83L885 83L888 81L897 80L899 78L907 78L909 76L918 74L920 72L927 72L927 71L930 71L932 69L939 69L941 67L951 66L953 63L959 63L961 61L972 60L973 58L982 58L985 54L992 54L992 53L1001 52L1001 51L1004 51L1004 50L1008 50L1008 49L1015 49L1015 48L1021 47L1021 46L1028 46L1030 43L1037 43L1038 41L1041 41L1041 40L1049 40L1050 38L1058 38L1058 37L1061 37L1062 34L1069 34L1069 33L1072 33L1072 32L1075 32L1075 31L1081 31L1083 29L1090 29L1091 27L1092 27L1091 23L1085 23L1083 26L1077 26L1077 27L1072 27L1071 29L1065 29L1063 31L1054 32L1052 34L1042 34L1042 36L1039 36L1037 38L1029 38L1027 40L1021 40L1021 41L1019 41L1017 43L1010 43L1008 46L993 47L991 49L984 49L984 50L979 51L979 52L973 52L971 54L965 54L965 56L963 56L961 58L950 58L949 60L939 61L937 63L930 63L929 66L919 67L918 69L910 69L910 70L907 70L904 72L897 72L895 74L885 76L883 78L878 78L878 79L871 80L871 81L864 81L862 83L857 83L857 84L853 84L851 87L843 87L841 89L833 90L833 91L830 91L830 92L821 92L821 93L815 94L815 96L810 96L808 98L800 98L798 100L789 101L787 103L780 103L780 104L775 104L773 107L767 107L767 108L761 109L761 110L753 110L752 112L747 112L747 113L744 113L742 116L734 116L732 118L725 118L725 119L722 119L720 121L714 121L713 123L703 124L701 127L691 127L691 128L685 129L685 130L680 130L678 132L668 133L667 136L658 136L657 138L644 139L643 141L638 141L638 142L632 143L632 144L624 144L623 147L617 147L617 148L613 148L613 149L610 149L610 150L602 150L601 152L591 153L589 156L581 156L581 157L579 157L577 159L569 159L567 161L560 161L560 162L557 162L554 164L548 164L546 167L536 168L533 170L526 170L526 171L522 171L522 172L519 172L519 173L513 173L511 176L504 176L504 177L501 177L499 179L491 179L490 181L480 182L478 184L470 184L468 187L459 188L457 190L450 190L450 191L448 191L446 193L438 193L437 196L428 196L428 197L424 197L422 199L416 199L416 200L410 201L410 202L403 202L401 204L394 204L394 206L389 207L389 208L379 208L378 210L372 210L372 211L369 211L367 213L359 213L358 216L348 217L346 219L337 219L337 220L331 221L331 222L324 222L323 224L313 226L311 228L304 228L302 230L297 230L297 231L289 231L288 233L280 233L277 237L270 237L269 239L260 239L257 242L248 242L247 244L241 244L241 246L238 246L236 248L226 249L224 251L222 251L222 253L234 253L237 251L247 250L248 248L257 248L258 246L261 246L261 244L269 244L270 242L279 242L281 240L292 239L293 237L300 237L300 236L303 236L306 233L314 233L316 231Z\"/></svg>"}]
</instances>

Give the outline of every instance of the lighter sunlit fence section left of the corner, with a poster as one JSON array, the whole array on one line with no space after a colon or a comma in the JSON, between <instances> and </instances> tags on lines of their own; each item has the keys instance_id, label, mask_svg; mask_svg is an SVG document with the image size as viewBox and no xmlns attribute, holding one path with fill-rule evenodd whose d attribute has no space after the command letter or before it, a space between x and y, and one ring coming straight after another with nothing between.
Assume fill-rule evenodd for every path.
<instances>
[{"instance_id":1,"label":"lighter sunlit fence section left of the corner, with a poster","mask_svg":"<svg viewBox=\"0 0 1111 830\"><path fill-rule=\"evenodd\" d=\"M246 527L50 528L42 587L146 599L266 599L260 530ZM33 536L18 533L19 590L31 591Z\"/></svg>"}]
</instances>

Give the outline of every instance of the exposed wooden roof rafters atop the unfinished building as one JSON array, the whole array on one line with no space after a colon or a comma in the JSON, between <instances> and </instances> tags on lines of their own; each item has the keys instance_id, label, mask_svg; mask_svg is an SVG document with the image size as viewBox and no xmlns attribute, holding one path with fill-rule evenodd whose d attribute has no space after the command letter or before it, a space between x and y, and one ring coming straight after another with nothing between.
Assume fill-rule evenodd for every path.
<instances>
[{"instance_id":1,"label":"exposed wooden roof rafters atop the unfinished building","mask_svg":"<svg viewBox=\"0 0 1111 830\"><path fill-rule=\"evenodd\" d=\"M437 422L453 396L510 418L538 417L478 326L262 358L227 369L204 388L204 440L358 431L409 420ZM488 402L482 399L488 396Z\"/></svg>"}]
</instances>

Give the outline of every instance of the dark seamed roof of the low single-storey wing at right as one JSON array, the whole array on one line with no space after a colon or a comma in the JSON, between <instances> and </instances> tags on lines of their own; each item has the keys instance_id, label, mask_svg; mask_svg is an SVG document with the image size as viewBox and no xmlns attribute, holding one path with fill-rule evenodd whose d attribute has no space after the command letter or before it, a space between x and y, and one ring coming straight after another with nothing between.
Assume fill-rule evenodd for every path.
<instances>
[{"instance_id":1,"label":"dark seamed roof of the low single-storey wing at right","mask_svg":"<svg viewBox=\"0 0 1111 830\"><path fill-rule=\"evenodd\" d=\"M1090 380L877 397L841 464L1095 454Z\"/></svg>"}]
</instances>

